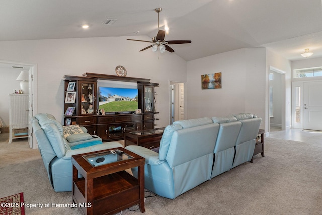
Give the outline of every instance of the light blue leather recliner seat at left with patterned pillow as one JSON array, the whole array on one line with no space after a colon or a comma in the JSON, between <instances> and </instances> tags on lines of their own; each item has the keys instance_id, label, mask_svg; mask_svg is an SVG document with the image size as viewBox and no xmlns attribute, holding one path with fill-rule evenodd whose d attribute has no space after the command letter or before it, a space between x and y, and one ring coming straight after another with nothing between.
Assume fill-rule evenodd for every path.
<instances>
[{"instance_id":1,"label":"light blue leather recliner seat at left with patterned pillow","mask_svg":"<svg viewBox=\"0 0 322 215\"><path fill-rule=\"evenodd\" d=\"M123 147L119 142L102 143L100 137L88 134L85 127L80 127L83 133L65 138L63 126L51 114L39 113L31 122L49 181L56 192L72 189L72 155Z\"/></svg>"}]
</instances>

